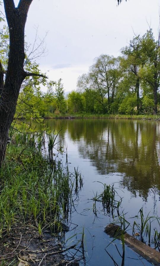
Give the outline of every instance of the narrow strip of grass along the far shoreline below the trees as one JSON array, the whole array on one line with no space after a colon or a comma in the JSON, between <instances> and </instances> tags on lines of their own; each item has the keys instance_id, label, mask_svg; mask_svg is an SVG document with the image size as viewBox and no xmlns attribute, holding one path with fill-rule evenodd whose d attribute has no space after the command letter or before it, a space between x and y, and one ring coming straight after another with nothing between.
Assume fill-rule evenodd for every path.
<instances>
[{"instance_id":1,"label":"narrow strip of grass along the far shoreline below the trees","mask_svg":"<svg viewBox=\"0 0 160 266\"><path fill-rule=\"evenodd\" d=\"M104 118L104 119L141 119L141 120L160 120L160 115L121 115L121 114L89 114L89 113L75 113L75 114L52 114L50 113L47 118Z\"/></svg>"}]
</instances>

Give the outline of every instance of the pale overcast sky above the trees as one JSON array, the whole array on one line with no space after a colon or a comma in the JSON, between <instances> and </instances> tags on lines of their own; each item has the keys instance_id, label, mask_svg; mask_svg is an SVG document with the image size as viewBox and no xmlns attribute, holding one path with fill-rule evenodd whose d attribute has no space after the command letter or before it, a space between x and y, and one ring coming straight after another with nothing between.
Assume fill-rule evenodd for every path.
<instances>
[{"instance_id":1,"label":"pale overcast sky above the trees","mask_svg":"<svg viewBox=\"0 0 160 266\"><path fill-rule=\"evenodd\" d=\"M119 7L116 0L33 0L27 41L33 43L36 27L40 38L47 33L40 69L51 80L62 78L65 91L71 91L95 57L118 56L134 33L144 34L148 24L157 37L159 6L159 0L123 0Z\"/></svg>"}]
</instances>

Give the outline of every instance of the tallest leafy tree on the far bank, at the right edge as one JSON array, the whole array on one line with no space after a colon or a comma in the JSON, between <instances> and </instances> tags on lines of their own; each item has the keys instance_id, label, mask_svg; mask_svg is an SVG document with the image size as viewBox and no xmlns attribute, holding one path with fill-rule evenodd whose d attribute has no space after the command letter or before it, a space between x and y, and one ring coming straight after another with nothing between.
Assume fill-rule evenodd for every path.
<instances>
[{"instance_id":1,"label":"tallest leafy tree on the far bank, at the right edge","mask_svg":"<svg viewBox=\"0 0 160 266\"><path fill-rule=\"evenodd\" d=\"M143 88L153 92L154 113L157 113L157 92L160 86L160 32L156 41L152 29L148 30L142 37L138 35L130 41L129 46L122 49L128 56L130 69L136 75L136 87L141 82ZM148 92L147 92L148 93ZM139 95L137 95L139 97Z\"/></svg>"}]
</instances>

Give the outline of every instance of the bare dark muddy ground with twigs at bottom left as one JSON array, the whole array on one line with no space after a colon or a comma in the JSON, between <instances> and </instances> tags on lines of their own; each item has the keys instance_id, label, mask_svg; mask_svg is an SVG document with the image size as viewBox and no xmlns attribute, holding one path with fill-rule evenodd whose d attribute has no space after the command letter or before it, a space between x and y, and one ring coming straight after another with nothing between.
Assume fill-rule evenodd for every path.
<instances>
[{"instance_id":1,"label":"bare dark muddy ground with twigs at bottom left","mask_svg":"<svg viewBox=\"0 0 160 266\"><path fill-rule=\"evenodd\" d=\"M0 239L0 265L12 266L78 266L73 257L67 260L63 254L75 246L63 247L58 241L57 234L49 229L41 236L35 228L22 227L14 230L11 236Z\"/></svg>"}]
</instances>

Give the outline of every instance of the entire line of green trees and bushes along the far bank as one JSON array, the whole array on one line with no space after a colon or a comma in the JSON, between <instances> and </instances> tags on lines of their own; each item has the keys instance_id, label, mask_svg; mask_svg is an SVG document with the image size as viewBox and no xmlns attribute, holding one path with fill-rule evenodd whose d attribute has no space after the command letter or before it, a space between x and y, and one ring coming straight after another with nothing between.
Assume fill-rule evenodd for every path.
<instances>
[{"instance_id":1,"label":"entire line of green trees and bushes along the far bank","mask_svg":"<svg viewBox=\"0 0 160 266\"><path fill-rule=\"evenodd\" d=\"M25 69L41 73L35 58L37 49L25 43ZM36 55L32 51L36 51ZM4 70L9 53L8 28L0 31L0 59ZM41 87L47 88L42 93ZM59 114L156 114L160 112L160 32L152 29L134 37L115 58L102 54L95 58L89 72L78 78L77 89L65 96L62 80L27 77L21 87L16 117L50 117Z\"/></svg>"}]
</instances>

